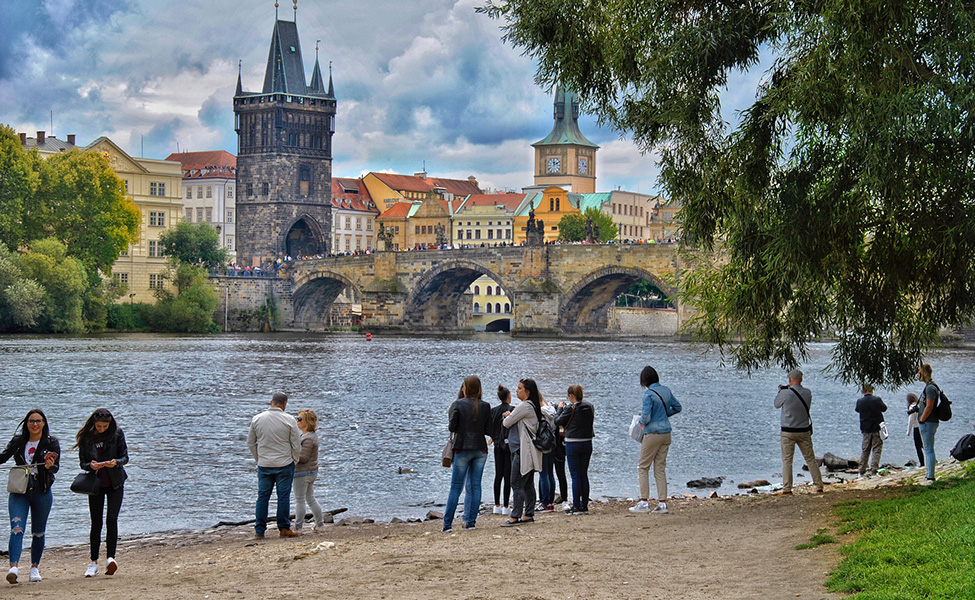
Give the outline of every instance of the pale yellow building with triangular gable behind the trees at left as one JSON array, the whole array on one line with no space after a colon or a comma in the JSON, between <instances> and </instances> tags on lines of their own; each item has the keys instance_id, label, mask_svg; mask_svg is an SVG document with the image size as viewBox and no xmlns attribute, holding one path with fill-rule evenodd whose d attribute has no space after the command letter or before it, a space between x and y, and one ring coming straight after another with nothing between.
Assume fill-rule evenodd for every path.
<instances>
[{"instance_id":1,"label":"pale yellow building with triangular gable behind the trees at left","mask_svg":"<svg viewBox=\"0 0 975 600\"><path fill-rule=\"evenodd\" d=\"M159 235L172 229L183 214L183 169L176 161L133 158L112 140L100 137L86 150L100 152L125 182L128 194L142 213L139 241L112 265L112 277L128 292L119 302L156 301L155 288L165 285L166 257Z\"/></svg>"}]
</instances>

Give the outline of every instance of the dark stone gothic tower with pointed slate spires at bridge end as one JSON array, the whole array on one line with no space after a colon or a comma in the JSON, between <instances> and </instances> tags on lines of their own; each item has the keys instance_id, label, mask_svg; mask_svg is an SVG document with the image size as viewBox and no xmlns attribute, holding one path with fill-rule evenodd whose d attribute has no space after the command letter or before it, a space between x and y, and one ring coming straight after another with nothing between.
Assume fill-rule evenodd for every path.
<instances>
[{"instance_id":1,"label":"dark stone gothic tower with pointed slate spires at bridge end","mask_svg":"<svg viewBox=\"0 0 975 600\"><path fill-rule=\"evenodd\" d=\"M317 46L311 85L305 81L297 25L276 19L263 89L243 91L237 73L237 257L242 265L328 252L335 93L331 68L325 89Z\"/></svg>"}]
</instances>

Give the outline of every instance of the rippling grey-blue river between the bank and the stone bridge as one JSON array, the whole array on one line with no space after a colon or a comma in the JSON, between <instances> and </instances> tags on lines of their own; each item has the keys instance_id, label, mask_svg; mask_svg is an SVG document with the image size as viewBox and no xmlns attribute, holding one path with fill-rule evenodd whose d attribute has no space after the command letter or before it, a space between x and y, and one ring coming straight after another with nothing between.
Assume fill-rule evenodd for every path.
<instances>
[{"instance_id":1,"label":"rippling grey-blue river between the bank and the stone bridge","mask_svg":"<svg viewBox=\"0 0 975 600\"><path fill-rule=\"evenodd\" d=\"M813 391L814 444L819 455L856 457L860 433L853 406L859 394L821 373L830 349L814 345L803 366L804 383ZM938 431L936 449L944 458L971 431L975 411L963 395L972 388L975 351L938 351L929 360L935 380L955 400L955 418ZM129 444L121 534L202 528L253 518L256 469L247 449L248 424L273 392L284 391L289 412L309 408L319 415L316 492L323 506L388 520L422 516L431 504L445 502L450 470L440 466L440 450L446 410L463 378L480 376L485 399L494 405L499 383L514 390L519 378L531 377L551 400L563 399L571 384L582 385L596 410L592 497L632 497L639 446L626 429L639 412L639 372L647 364L684 407L672 419L671 494L688 491L686 482L699 477L727 477L722 494L736 493L739 481L780 481L779 412L772 399L776 385L785 383L782 371L749 377L705 346L669 339L8 336L0 338L0 435L5 444L37 406L61 440L49 544L87 538L87 503L68 490L79 470L77 451L69 448L98 406L113 411ZM890 407L884 462L915 458L906 436L906 391L877 391ZM798 472L801 459L796 465ZM414 472L398 474L398 468ZM493 475L492 453L485 503L493 501Z\"/></svg>"}]
</instances>

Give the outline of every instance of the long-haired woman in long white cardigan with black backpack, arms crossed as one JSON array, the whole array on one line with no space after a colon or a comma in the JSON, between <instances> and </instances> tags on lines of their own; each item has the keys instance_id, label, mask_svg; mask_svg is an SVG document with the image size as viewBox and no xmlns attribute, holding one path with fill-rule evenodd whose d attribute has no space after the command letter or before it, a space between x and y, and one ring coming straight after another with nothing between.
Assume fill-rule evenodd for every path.
<instances>
[{"instance_id":1,"label":"long-haired woman in long white cardigan with black backpack, arms crossed","mask_svg":"<svg viewBox=\"0 0 975 600\"><path fill-rule=\"evenodd\" d=\"M542 470L542 451L532 438L542 417L542 395L534 379L518 382L515 395L521 404L504 413L502 425L508 428L511 449L511 515L502 527L535 522L535 471Z\"/></svg>"}]
</instances>

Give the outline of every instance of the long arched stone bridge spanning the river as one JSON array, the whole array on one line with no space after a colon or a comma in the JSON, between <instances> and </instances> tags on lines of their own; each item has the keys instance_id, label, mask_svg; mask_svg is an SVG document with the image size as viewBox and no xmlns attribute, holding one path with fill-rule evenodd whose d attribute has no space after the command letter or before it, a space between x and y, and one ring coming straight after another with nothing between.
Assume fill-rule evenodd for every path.
<instances>
[{"instance_id":1,"label":"long arched stone bridge spanning the river","mask_svg":"<svg viewBox=\"0 0 975 600\"><path fill-rule=\"evenodd\" d=\"M369 331L468 331L469 288L486 275L511 301L512 333L603 333L621 292L646 280L672 296L679 272L669 244L375 252L290 262L276 278L214 277L221 300L215 320L246 328L240 315L273 301L279 329L321 330L335 300L351 290ZM678 322L683 312L678 305Z\"/></svg>"}]
</instances>

